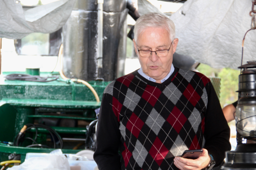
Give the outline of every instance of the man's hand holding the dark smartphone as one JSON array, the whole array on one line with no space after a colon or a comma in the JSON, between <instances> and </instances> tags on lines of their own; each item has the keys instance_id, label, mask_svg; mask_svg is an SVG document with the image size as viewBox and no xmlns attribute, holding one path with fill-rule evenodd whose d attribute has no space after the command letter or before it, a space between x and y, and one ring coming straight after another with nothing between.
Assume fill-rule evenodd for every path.
<instances>
[{"instance_id":1,"label":"man's hand holding the dark smartphone","mask_svg":"<svg viewBox=\"0 0 256 170\"><path fill-rule=\"evenodd\" d=\"M209 165L210 160L208 151L203 149L203 152L197 159L186 159L176 156L174 158L174 165L180 170L201 170Z\"/></svg>"}]
</instances>

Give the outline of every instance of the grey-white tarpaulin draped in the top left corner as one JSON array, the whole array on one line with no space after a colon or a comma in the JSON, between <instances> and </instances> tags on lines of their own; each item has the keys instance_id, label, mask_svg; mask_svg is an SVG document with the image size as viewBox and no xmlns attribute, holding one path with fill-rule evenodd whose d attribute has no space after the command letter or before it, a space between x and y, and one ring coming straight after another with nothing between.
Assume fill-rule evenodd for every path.
<instances>
[{"instance_id":1,"label":"grey-white tarpaulin draped in the top left corner","mask_svg":"<svg viewBox=\"0 0 256 170\"><path fill-rule=\"evenodd\" d=\"M18 0L0 0L0 37L21 39L29 33L57 31L66 23L74 2L60 0L24 11Z\"/></svg>"}]
</instances>

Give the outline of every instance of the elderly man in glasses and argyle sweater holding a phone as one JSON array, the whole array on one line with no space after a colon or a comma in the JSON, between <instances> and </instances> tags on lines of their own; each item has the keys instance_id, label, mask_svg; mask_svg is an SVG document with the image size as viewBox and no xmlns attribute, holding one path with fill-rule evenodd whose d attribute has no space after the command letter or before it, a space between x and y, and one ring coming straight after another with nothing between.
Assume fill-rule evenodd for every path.
<instances>
[{"instance_id":1,"label":"elderly man in glasses and argyle sweater holding a phone","mask_svg":"<svg viewBox=\"0 0 256 170\"><path fill-rule=\"evenodd\" d=\"M133 43L141 68L111 82L103 94L94 153L99 169L221 165L230 129L210 80L172 65L178 44L173 22L157 13L141 16ZM179 157L201 148L197 159Z\"/></svg>"}]
</instances>

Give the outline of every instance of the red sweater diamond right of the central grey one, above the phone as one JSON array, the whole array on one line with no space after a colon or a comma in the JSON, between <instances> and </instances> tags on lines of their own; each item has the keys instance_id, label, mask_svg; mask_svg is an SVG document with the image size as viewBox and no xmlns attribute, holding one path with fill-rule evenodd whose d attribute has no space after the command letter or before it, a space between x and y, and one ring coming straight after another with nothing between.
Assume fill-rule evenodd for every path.
<instances>
[{"instance_id":1,"label":"red sweater diamond right of the central grey one, above the phone","mask_svg":"<svg viewBox=\"0 0 256 170\"><path fill-rule=\"evenodd\" d=\"M180 129L187 121L187 118L185 115L183 115L183 113L180 112L180 110L176 106L174 106L171 114L168 116L166 121L169 122L178 133L180 133Z\"/></svg>"}]
</instances>

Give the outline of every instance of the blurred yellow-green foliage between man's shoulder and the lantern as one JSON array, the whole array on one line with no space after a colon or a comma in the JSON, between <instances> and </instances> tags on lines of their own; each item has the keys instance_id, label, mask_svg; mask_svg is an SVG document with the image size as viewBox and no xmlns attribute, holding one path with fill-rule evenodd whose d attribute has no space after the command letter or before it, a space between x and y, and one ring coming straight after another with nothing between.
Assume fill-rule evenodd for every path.
<instances>
[{"instance_id":1,"label":"blurred yellow-green foliage between man's shoulder and the lantern","mask_svg":"<svg viewBox=\"0 0 256 170\"><path fill-rule=\"evenodd\" d=\"M207 77L215 76L221 78L220 105L222 108L238 99L238 92L236 91L238 90L238 76L240 70L230 68L214 69L202 63L200 63L196 69Z\"/></svg>"}]
</instances>

